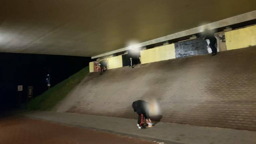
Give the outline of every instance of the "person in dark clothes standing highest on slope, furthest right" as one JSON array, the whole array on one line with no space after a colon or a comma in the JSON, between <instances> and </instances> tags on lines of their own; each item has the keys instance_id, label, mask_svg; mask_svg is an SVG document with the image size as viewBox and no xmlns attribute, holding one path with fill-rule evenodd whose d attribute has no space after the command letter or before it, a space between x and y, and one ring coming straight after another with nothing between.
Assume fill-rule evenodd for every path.
<instances>
[{"instance_id":1,"label":"person in dark clothes standing highest on slope, furthest right","mask_svg":"<svg viewBox=\"0 0 256 144\"><path fill-rule=\"evenodd\" d=\"M215 44L217 42L217 39L215 38L214 33L208 29L205 29L203 34L204 34L204 39L209 39L209 41L210 41L209 46L212 49L212 56L216 55L217 48L216 48Z\"/></svg>"}]
</instances>

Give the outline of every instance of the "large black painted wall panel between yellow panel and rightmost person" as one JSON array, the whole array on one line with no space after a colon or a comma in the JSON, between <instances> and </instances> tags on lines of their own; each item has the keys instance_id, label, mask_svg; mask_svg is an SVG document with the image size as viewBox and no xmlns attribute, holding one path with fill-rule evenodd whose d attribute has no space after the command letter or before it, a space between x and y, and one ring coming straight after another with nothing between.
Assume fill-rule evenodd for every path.
<instances>
[{"instance_id":1,"label":"large black painted wall panel between yellow panel and rightmost person","mask_svg":"<svg viewBox=\"0 0 256 144\"><path fill-rule=\"evenodd\" d=\"M175 43L176 58L207 54L207 43L203 38L197 38Z\"/></svg>"}]
</instances>

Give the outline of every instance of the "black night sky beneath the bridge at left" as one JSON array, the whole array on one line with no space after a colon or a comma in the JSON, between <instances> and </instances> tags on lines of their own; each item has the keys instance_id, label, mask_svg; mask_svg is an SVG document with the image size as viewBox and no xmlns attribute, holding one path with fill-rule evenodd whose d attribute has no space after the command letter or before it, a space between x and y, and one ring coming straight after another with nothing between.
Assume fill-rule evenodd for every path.
<instances>
[{"instance_id":1,"label":"black night sky beneath the bridge at left","mask_svg":"<svg viewBox=\"0 0 256 144\"><path fill-rule=\"evenodd\" d=\"M88 66L90 61L90 57L0 53L0 110L16 106L18 85L23 85L23 102L28 86L33 86L34 97L46 91L47 68L54 86Z\"/></svg>"}]
</instances>

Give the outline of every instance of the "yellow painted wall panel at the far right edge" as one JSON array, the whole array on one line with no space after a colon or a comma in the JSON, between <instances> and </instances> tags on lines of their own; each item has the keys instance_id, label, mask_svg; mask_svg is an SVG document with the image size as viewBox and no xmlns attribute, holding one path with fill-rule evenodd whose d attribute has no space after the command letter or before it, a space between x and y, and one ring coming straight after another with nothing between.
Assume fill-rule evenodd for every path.
<instances>
[{"instance_id":1,"label":"yellow painted wall panel at the far right edge","mask_svg":"<svg viewBox=\"0 0 256 144\"><path fill-rule=\"evenodd\" d=\"M225 32L227 50L256 45L256 25Z\"/></svg>"}]
</instances>

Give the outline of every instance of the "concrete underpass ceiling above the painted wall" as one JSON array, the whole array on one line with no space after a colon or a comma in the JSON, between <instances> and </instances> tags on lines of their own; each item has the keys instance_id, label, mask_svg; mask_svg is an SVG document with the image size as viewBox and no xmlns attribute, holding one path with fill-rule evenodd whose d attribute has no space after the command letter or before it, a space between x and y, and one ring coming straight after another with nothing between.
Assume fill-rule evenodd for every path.
<instances>
[{"instance_id":1,"label":"concrete underpass ceiling above the painted wall","mask_svg":"<svg viewBox=\"0 0 256 144\"><path fill-rule=\"evenodd\" d=\"M95 56L255 10L255 0L0 0L0 52Z\"/></svg>"}]
</instances>

